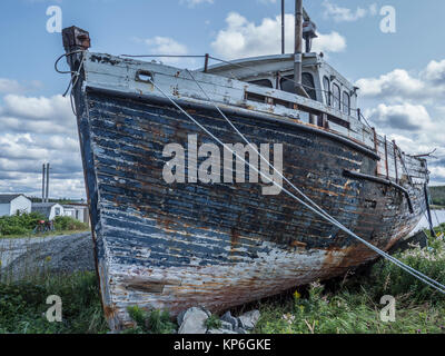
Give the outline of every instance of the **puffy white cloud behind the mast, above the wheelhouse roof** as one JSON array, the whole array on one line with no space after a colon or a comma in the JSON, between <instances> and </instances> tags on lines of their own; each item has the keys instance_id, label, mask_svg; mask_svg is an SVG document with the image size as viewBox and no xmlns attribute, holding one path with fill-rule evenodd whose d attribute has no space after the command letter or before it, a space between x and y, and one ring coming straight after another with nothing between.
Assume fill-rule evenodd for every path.
<instances>
[{"instance_id":1,"label":"puffy white cloud behind the mast, above the wheelhouse roof","mask_svg":"<svg viewBox=\"0 0 445 356\"><path fill-rule=\"evenodd\" d=\"M280 52L281 20L265 18L258 26L248 21L237 12L230 12L226 18L227 27L220 30L211 43L214 50L227 58L244 58ZM285 22L286 48L294 48L294 14L286 14ZM318 33L314 40L314 51L339 52L346 49L346 39L337 32Z\"/></svg>"}]
</instances>

